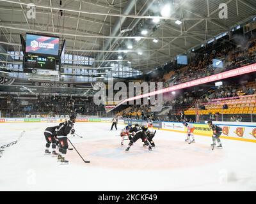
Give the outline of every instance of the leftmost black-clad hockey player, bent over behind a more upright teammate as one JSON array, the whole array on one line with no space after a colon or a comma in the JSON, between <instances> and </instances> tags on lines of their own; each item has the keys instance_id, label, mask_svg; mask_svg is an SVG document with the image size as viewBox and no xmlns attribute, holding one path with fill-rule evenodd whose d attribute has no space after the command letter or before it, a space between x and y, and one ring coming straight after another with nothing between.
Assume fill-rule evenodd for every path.
<instances>
[{"instance_id":1,"label":"leftmost black-clad hockey player, bent over behind a more upright teammate","mask_svg":"<svg viewBox=\"0 0 256 204\"><path fill-rule=\"evenodd\" d=\"M44 136L45 136L45 140L46 140L46 149L45 149L45 154L51 154L51 152L49 152L49 148L51 147L52 144L52 155L58 155L56 153L56 145L57 145L57 141L56 141L56 135L57 135L57 131L60 128L60 126L54 126L54 127L48 127L45 129L44 131Z\"/></svg>"}]
</instances>

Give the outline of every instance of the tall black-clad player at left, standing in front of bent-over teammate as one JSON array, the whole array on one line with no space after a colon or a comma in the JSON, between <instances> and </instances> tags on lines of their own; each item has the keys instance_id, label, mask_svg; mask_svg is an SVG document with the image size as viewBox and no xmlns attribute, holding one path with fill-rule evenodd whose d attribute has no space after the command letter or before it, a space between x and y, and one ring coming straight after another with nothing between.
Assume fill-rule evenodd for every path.
<instances>
[{"instance_id":1,"label":"tall black-clad player at left, standing in front of bent-over teammate","mask_svg":"<svg viewBox=\"0 0 256 204\"><path fill-rule=\"evenodd\" d=\"M60 149L59 149L59 156L58 160L61 160L61 163L68 163L67 160L65 160L65 155L67 154L68 149L68 138L67 135L71 132L71 134L75 133L74 130L74 123L76 122L76 117L74 115L70 116L70 119L60 123L60 128L57 132L57 138L60 143Z\"/></svg>"}]
</instances>

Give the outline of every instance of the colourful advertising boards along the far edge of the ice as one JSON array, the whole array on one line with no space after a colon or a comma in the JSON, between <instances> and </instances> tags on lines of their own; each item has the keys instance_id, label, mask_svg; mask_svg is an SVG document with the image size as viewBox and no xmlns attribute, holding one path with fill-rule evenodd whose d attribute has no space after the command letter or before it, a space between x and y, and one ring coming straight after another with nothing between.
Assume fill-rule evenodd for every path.
<instances>
[{"instance_id":1,"label":"colourful advertising boards along the far edge of the ice","mask_svg":"<svg viewBox=\"0 0 256 204\"><path fill-rule=\"evenodd\" d=\"M64 122L65 118L0 118L1 123L12 122ZM77 118L76 122L111 122L112 118ZM146 125L147 122L143 120L118 120L118 124L140 124ZM240 140L244 142L256 143L256 124L251 122L214 122L223 130L221 138L231 140ZM212 130L207 124L193 124L195 127L194 134L202 136L212 136ZM165 131L174 131L179 133L186 133L186 129L180 122L164 122L154 121L153 126L156 129Z\"/></svg>"}]
</instances>

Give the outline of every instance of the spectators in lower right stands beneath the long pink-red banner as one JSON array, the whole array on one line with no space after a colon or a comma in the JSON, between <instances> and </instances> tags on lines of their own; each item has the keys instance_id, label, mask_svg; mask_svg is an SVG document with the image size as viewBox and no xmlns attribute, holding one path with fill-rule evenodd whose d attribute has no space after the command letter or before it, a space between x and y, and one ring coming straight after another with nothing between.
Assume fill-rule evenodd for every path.
<instances>
[{"instance_id":1,"label":"spectators in lower right stands beneath the long pink-red banner","mask_svg":"<svg viewBox=\"0 0 256 204\"><path fill-rule=\"evenodd\" d=\"M173 96L172 99L166 100L163 103L163 107L172 107L166 115L157 115L157 112L152 112L152 106L150 105L133 105L129 106L125 110L118 113L119 116L122 115L124 118L129 119L142 119L147 120L151 115L154 115L155 120L165 120L172 122L180 122L184 118L189 122L195 122L195 118L182 117L184 115L184 110L189 108L195 108L198 104L199 110L207 110L205 105L212 103L214 99L224 99L224 98L239 98L239 96L253 95L255 94L256 82L248 82L247 84L228 84L222 85L213 91L205 92L203 96L200 96L199 92L179 92L177 95ZM228 109L228 105L224 103L223 110ZM208 115L209 114L209 115ZM207 119L220 120L220 113L209 113L207 112ZM232 117L231 121L238 121L241 116L237 115ZM241 120L239 120L241 121Z\"/></svg>"}]
</instances>

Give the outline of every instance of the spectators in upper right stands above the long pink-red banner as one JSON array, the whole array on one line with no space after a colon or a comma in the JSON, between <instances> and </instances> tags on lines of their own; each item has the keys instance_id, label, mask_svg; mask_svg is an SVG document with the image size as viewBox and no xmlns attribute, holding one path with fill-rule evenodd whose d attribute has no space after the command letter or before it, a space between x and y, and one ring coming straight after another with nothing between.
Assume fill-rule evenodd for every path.
<instances>
[{"instance_id":1,"label":"spectators in upper right stands above the long pink-red banner","mask_svg":"<svg viewBox=\"0 0 256 204\"><path fill-rule=\"evenodd\" d=\"M241 45L236 46L228 41L226 43L220 43L219 47L210 47L204 50L205 53L195 54L195 59L188 66L176 66L175 72L172 78L169 79L169 82L173 82L176 85L213 75L214 67L212 65L212 59L223 61L223 69L221 71L228 71L252 64L256 61L255 51L256 38L254 36L248 40L245 47L241 47ZM166 84L168 84L167 82Z\"/></svg>"}]
</instances>

